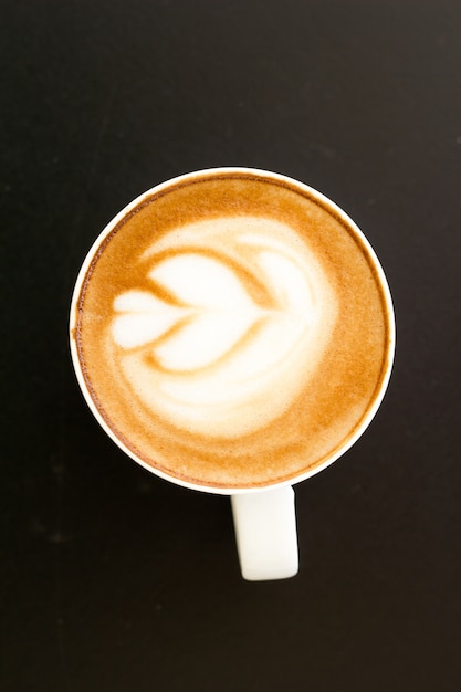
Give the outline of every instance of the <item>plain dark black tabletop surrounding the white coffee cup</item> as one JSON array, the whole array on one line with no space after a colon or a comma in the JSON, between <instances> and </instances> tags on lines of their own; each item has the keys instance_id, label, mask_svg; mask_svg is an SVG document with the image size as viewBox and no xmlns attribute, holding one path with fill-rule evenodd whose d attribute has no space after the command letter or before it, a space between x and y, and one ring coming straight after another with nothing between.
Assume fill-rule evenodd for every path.
<instances>
[{"instance_id":1,"label":"plain dark black tabletop surrounding the white coffee cup","mask_svg":"<svg viewBox=\"0 0 461 692\"><path fill-rule=\"evenodd\" d=\"M460 689L460 35L458 0L0 0L2 691ZM285 581L241 579L226 497L115 448L67 348L106 222L230 165L343 207L397 313Z\"/></svg>"}]
</instances>

